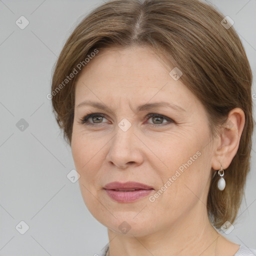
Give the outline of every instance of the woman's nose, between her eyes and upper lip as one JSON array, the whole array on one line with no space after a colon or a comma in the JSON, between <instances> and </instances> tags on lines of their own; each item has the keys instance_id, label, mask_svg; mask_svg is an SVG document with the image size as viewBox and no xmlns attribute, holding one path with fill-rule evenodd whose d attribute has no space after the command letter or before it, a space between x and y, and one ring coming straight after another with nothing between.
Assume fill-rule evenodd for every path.
<instances>
[{"instance_id":1,"label":"woman's nose, between her eyes and upper lip","mask_svg":"<svg viewBox=\"0 0 256 256\"><path fill-rule=\"evenodd\" d=\"M143 143L134 134L133 125L126 131L117 127L116 134L110 141L106 160L111 165L125 169L131 165L140 165L143 162Z\"/></svg>"}]
</instances>

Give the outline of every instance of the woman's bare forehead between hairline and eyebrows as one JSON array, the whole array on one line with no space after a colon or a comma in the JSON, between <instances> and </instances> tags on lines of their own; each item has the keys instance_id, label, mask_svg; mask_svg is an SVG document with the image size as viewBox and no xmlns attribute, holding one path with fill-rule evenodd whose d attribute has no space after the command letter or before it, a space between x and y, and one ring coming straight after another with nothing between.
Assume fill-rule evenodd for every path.
<instances>
[{"instance_id":1,"label":"woman's bare forehead between hairline and eyebrows","mask_svg":"<svg viewBox=\"0 0 256 256\"><path fill-rule=\"evenodd\" d=\"M170 70L148 46L99 50L76 81L75 105L91 97L111 104L128 99L135 106L158 99L183 108L198 104L193 93L169 75Z\"/></svg>"}]
</instances>

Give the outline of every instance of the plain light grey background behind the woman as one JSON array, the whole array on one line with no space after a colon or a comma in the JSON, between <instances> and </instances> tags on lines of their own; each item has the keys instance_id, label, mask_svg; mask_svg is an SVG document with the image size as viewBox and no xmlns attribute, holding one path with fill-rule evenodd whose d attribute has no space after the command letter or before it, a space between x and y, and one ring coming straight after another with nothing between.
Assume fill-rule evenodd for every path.
<instances>
[{"instance_id":1,"label":"plain light grey background behind the woman","mask_svg":"<svg viewBox=\"0 0 256 256\"><path fill-rule=\"evenodd\" d=\"M0 0L0 255L85 256L108 242L106 227L83 203L78 181L66 177L74 168L71 150L46 98L52 66L65 40L102 2ZM211 2L234 20L255 75L256 0ZM15 24L21 15L29 20L24 29ZM21 118L28 123L23 131L16 126ZM246 200L234 229L224 235L256 248L254 148L253 135ZM15 229L21 220L29 226L24 234Z\"/></svg>"}]
</instances>

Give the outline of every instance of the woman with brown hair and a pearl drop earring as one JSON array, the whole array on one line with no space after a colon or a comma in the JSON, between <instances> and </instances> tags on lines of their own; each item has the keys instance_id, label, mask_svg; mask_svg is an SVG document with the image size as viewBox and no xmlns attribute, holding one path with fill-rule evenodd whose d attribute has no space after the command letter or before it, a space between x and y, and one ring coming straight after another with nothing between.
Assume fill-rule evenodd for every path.
<instances>
[{"instance_id":1,"label":"woman with brown hair and a pearl drop earring","mask_svg":"<svg viewBox=\"0 0 256 256\"><path fill-rule=\"evenodd\" d=\"M109 1L77 25L52 105L101 255L256 254L216 230L249 171L251 79L232 21L197 0Z\"/></svg>"}]
</instances>

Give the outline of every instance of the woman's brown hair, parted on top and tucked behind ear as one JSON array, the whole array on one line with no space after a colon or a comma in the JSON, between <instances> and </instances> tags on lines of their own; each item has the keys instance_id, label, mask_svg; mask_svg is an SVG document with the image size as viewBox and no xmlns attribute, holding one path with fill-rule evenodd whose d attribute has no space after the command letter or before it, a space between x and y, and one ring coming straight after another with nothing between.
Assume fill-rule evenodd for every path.
<instances>
[{"instance_id":1,"label":"woman's brown hair, parted on top and tucked behind ear","mask_svg":"<svg viewBox=\"0 0 256 256\"><path fill-rule=\"evenodd\" d=\"M85 66L84 59L95 49L137 44L151 46L158 55L164 53L169 66L183 72L181 81L204 105L212 136L227 120L228 112L240 107L245 125L238 151L225 171L226 188L216 188L215 175L207 198L208 215L217 228L236 217L249 171L253 130L251 69L237 33L232 26L222 25L223 18L218 10L199 0L106 2L91 11L67 39L51 85L55 118L69 145L78 75L65 79L79 69L78 63Z\"/></svg>"}]
</instances>

